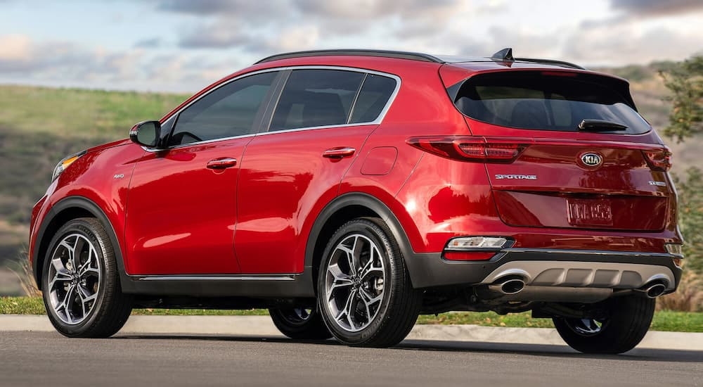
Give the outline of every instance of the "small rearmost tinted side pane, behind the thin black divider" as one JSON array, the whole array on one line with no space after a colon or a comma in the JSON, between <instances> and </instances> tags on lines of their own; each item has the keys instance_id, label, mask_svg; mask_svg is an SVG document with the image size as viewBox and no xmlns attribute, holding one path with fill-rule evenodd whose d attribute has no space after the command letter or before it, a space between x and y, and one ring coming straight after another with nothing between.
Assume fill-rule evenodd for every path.
<instances>
[{"instance_id":1,"label":"small rearmost tinted side pane, behind the thin black divider","mask_svg":"<svg viewBox=\"0 0 703 387\"><path fill-rule=\"evenodd\" d=\"M356 124L375 121L395 88L396 81L393 78L375 74L367 75L359 92L359 98L354 104L351 122Z\"/></svg>"}]
</instances>

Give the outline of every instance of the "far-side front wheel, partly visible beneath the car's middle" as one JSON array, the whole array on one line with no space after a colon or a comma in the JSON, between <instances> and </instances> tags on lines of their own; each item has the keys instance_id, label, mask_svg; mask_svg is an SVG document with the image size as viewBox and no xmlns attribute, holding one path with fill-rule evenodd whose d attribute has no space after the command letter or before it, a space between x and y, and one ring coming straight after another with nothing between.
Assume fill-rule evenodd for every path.
<instances>
[{"instance_id":1,"label":"far-side front wheel, partly visible beneath the car's middle","mask_svg":"<svg viewBox=\"0 0 703 387\"><path fill-rule=\"evenodd\" d=\"M332 337L317 308L271 308L269 315L280 333L296 340L326 340Z\"/></svg>"}]
</instances>

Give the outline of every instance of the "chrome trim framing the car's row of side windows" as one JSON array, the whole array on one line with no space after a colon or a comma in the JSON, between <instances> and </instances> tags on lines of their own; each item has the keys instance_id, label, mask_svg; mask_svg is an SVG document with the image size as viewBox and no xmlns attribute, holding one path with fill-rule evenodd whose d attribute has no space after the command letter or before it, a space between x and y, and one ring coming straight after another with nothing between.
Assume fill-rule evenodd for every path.
<instances>
[{"instance_id":1,"label":"chrome trim framing the car's row of side windows","mask_svg":"<svg viewBox=\"0 0 703 387\"><path fill-rule=\"evenodd\" d=\"M271 126L271 122L269 122L264 125L264 128L266 129L265 132L257 132L257 133L250 133L250 134L244 134L242 136L233 136L233 137L223 137L221 139L211 139L211 140L205 140L205 141L198 141L198 142L191 142L188 144L181 144L177 146L171 146L169 148L163 148L163 149L156 149L156 148L146 148L145 146L142 146L142 148L145 151L148 152L161 152L161 151L167 151L170 149L178 149L178 148L183 148L183 147L188 147L188 146L198 146L201 144L210 144L213 142L217 141L228 141L232 139L243 139L246 137L256 137L256 136L262 136L265 134L275 134L275 133L288 133L288 132L299 132L302 130L315 130L315 129L323 129L323 128L338 128L338 127L356 127L356 126L365 126L365 125L380 125L383 122L383 119L386 116L386 113L388 113L388 110L390 107L393 105L393 102L396 99L396 96L398 95L401 87L401 78L397 75L394 74L389 74L387 72L380 72L380 71L375 71L375 70L367 70L364 68L353 68L353 67L345 67L345 66L336 66L336 65L301 65L301 66L285 66L285 67L279 67L279 68L266 68L263 70L257 70L257 71L252 71L252 72L247 72L245 74L239 75L238 77L234 77L231 80L227 80L226 82L222 82L221 84L218 84L217 87L213 87L212 89L209 89L207 93L202 94L201 96L198 96L198 98L193 99L193 101L190 101L186 106L181 107L179 110L177 110L175 113L172 115L169 115L169 118L167 120L170 120L171 118L174 118L183 112L183 110L186 110L189 108L193 103L200 101L203 97L209 95L213 91L224 87L227 84L230 84L231 82L235 82L237 80L241 80L242 78L245 77L250 77L252 75L257 75L257 74L262 74L264 72L278 72L278 71L285 71L285 70L342 70L342 71L353 71L353 72L361 72L363 74L373 74L373 75L380 75L382 77L389 77L392 78L393 80L396 81L396 87L391 93L391 96L388 98L388 101L386 102L386 105L383 107L381 112L379 113L378 117L373 120L373 121L368 121L368 122L357 122L354 124L342 124L342 125L327 125L327 126L320 126L320 127L299 127L295 129L286 129L286 130L276 130L274 132L269 132L269 127ZM366 77L363 78L364 81L366 81ZM273 86L273 85L272 85ZM285 85L283 86L285 88ZM363 83L361 84L361 87L363 87ZM360 88L361 90L361 88ZM280 94L278 95L280 97ZM276 99L276 107L278 106L278 97ZM358 98L358 96L357 96ZM354 100L354 103L356 103L356 99ZM273 113L276 113L276 110L273 110ZM351 119L352 114L354 113L354 110L349 110L349 119ZM273 114L271 114L271 118L273 118ZM178 122L174 124L174 127L178 125ZM173 130L174 128L172 128Z\"/></svg>"}]
</instances>

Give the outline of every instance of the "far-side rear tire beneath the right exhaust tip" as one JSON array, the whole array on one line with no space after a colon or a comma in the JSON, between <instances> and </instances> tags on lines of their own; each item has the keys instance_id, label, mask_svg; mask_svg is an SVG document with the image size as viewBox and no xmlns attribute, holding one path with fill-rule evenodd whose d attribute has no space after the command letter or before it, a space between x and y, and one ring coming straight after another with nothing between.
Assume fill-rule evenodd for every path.
<instances>
[{"instance_id":1,"label":"far-side rear tire beneath the right exhaust tip","mask_svg":"<svg viewBox=\"0 0 703 387\"><path fill-rule=\"evenodd\" d=\"M611 298L603 303L602 318L554 317L564 341L582 353L624 353L642 341L654 316L654 298L640 295Z\"/></svg>"}]
</instances>

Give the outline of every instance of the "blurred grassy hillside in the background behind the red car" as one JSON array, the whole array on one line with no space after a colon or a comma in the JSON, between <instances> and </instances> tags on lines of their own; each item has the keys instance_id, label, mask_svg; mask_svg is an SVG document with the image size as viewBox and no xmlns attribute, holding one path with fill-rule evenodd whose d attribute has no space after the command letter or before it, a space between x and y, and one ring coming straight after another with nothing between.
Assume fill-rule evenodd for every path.
<instances>
[{"instance_id":1,"label":"blurred grassy hillside in the background behind the red car","mask_svg":"<svg viewBox=\"0 0 703 387\"><path fill-rule=\"evenodd\" d=\"M666 88L649 66L600 69L632 81L640 113L655 128L668 122ZM82 89L0 86L0 267L27 244L30 209L63 156L127 137L135 122L160 118L186 96ZM670 144L674 172L700 162L703 138Z\"/></svg>"}]
</instances>

